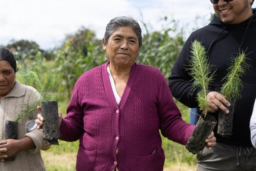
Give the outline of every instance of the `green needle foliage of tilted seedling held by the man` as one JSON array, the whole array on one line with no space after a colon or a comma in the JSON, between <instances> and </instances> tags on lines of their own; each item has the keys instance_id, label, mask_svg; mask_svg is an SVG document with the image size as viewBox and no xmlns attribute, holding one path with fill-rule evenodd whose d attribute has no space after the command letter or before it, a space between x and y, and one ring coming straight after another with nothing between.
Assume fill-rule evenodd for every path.
<instances>
[{"instance_id":1,"label":"green needle foliage of tilted seedling held by the man","mask_svg":"<svg viewBox=\"0 0 256 171\"><path fill-rule=\"evenodd\" d=\"M250 67L246 64L245 60L247 55L245 52L239 52L237 57L232 56L231 62L228 67L228 74L222 79L224 84L221 87L221 94L230 101L241 98L241 90L243 89L243 82L241 81L242 75Z\"/></svg>"}]
</instances>

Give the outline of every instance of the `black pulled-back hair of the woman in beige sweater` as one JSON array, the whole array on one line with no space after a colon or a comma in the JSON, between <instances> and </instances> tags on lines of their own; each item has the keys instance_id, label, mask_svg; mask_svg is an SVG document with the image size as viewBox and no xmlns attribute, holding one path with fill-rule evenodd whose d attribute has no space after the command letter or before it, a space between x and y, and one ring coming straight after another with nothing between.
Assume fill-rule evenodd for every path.
<instances>
[{"instance_id":1,"label":"black pulled-back hair of the woman in beige sweater","mask_svg":"<svg viewBox=\"0 0 256 171\"><path fill-rule=\"evenodd\" d=\"M9 62L15 73L18 71L15 57L9 49L0 47L0 61L1 60Z\"/></svg>"}]
</instances>

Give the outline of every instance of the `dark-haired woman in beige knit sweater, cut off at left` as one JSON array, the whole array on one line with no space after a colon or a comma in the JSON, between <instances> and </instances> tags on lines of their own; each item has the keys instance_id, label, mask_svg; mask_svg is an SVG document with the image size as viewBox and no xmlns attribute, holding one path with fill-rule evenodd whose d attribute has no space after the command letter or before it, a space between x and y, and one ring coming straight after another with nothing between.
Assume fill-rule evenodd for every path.
<instances>
[{"instance_id":1,"label":"dark-haired woman in beige knit sweater, cut off at left","mask_svg":"<svg viewBox=\"0 0 256 171\"><path fill-rule=\"evenodd\" d=\"M5 139L5 123L14 120L21 110L38 98L33 87L15 81L15 58L8 49L0 47L0 171L46 171L40 150L49 143L43 141L41 130L27 133L29 116L18 122L17 139ZM34 113L34 119L36 118ZM9 160L14 157L13 161Z\"/></svg>"}]
</instances>

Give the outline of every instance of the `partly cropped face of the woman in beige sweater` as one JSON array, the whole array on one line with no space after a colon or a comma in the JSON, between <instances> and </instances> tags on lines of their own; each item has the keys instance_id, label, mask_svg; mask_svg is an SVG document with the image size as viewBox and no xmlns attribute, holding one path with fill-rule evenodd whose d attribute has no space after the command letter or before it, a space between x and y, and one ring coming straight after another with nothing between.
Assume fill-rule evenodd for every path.
<instances>
[{"instance_id":1,"label":"partly cropped face of the woman in beige sweater","mask_svg":"<svg viewBox=\"0 0 256 171\"><path fill-rule=\"evenodd\" d=\"M8 94L15 84L15 72L8 61L0 60L0 99Z\"/></svg>"}]
</instances>

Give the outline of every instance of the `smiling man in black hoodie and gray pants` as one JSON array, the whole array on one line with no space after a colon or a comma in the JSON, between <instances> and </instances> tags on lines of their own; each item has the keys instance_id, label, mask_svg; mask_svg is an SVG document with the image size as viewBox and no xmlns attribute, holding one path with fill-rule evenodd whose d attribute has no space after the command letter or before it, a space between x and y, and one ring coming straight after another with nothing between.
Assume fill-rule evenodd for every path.
<instances>
[{"instance_id":1,"label":"smiling man in black hoodie and gray pants","mask_svg":"<svg viewBox=\"0 0 256 171\"><path fill-rule=\"evenodd\" d=\"M218 121L218 111L229 113L224 106L230 102L219 93L222 79L227 75L232 56L245 52L249 70L242 75L241 99L236 101L233 116L233 135L222 137L214 128L217 144L212 151L204 148L197 154L198 171L256 171L256 149L250 140L250 117L256 98L256 9L253 0L211 0L215 14L209 25L198 29L187 39L169 76L169 88L173 96L190 108L198 107L192 91L193 78L189 75L189 59L194 40L200 41L207 51L211 71L215 71L209 84L207 101L210 112ZM201 114L201 111L199 111Z\"/></svg>"}]
</instances>

